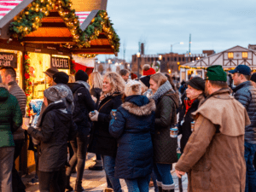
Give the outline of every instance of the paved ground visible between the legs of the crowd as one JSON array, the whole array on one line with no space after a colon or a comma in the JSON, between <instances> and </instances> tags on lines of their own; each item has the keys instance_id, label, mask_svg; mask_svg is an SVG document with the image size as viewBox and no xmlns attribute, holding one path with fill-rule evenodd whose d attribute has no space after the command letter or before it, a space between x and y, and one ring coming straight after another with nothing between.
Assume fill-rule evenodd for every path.
<instances>
[{"instance_id":1,"label":"paved ground visible between the legs of the crowd","mask_svg":"<svg viewBox=\"0 0 256 192\"><path fill-rule=\"evenodd\" d=\"M90 154L90 153L87 154L82 185L83 185L84 191L102 192L102 190L107 187L105 172L104 171L90 171L88 169L89 166L92 166L95 164L94 157L95 157L95 154ZM175 165L173 165L173 169L172 169L171 173L172 173L172 178L175 183L175 191L177 192L177 191L179 191L178 190L178 180L177 180L177 176L174 172L174 167L175 167ZM27 184L27 181L30 181L32 179L32 177L34 177L34 176L35 176L35 172L32 172L31 174L22 177L23 183L26 184L26 192L39 192L38 184L33 184L33 185ZM74 185L75 185L76 176L77 176L77 174L73 173L72 177L70 177L70 183L71 183L72 187L74 187ZM183 180L183 192L187 192L187 188L188 188L187 175L183 176L182 180ZM121 183L122 189L124 189L125 192L128 192L125 180L120 179L120 183ZM149 192L154 192L154 187L150 187Z\"/></svg>"}]
</instances>

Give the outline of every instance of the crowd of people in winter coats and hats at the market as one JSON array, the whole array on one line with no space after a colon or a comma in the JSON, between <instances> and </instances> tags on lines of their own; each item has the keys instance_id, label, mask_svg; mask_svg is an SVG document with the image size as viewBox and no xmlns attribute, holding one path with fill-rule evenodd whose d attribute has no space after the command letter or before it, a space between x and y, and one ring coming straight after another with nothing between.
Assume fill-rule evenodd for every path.
<instances>
[{"instance_id":1,"label":"crowd of people in winter coats and hats at the market","mask_svg":"<svg viewBox=\"0 0 256 192\"><path fill-rule=\"evenodd\" d=\"M239 65L229 75L208 67L206 79L195 76L180 87L150 65L137 79L126 69L103 77L82 70L68 76L53 67L44 73L49 88L32 125L22 123L26 95L15 69L0 68L0 191L26 189L14 163L24 131L37 147L42 192L84 191L87 152L96 154L89 169L106 172L106 192L122 191L119 178L129 192L148 191L150 179L155 192L174 192L174 163L177 177L188 174L189 191L256 191L256 73L250 67Z\"/></svg>"}]
</instances>

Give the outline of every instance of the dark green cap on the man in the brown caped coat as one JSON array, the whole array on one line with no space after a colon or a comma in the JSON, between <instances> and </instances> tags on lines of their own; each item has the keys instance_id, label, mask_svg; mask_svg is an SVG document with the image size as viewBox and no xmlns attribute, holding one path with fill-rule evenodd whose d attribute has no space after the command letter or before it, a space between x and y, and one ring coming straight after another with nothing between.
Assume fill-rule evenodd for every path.
<instances>
[{"instance_id":1,"label":"dark green cap on the man in the brown caped coat","mask_svg":"<svg viewBox=\"0 0 256 192\"><path fill-rule=\"evenodd\" d=\"M207 67L207 79L211 81L227 81L227 73L220 65Z\"/></svg>"}]
</instances>

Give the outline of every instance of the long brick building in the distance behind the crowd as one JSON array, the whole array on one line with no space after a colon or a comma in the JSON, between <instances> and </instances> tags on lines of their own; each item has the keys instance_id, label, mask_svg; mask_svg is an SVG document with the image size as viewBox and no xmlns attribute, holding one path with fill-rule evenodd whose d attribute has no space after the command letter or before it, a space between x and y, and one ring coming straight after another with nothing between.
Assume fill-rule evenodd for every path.
<instances>
[{"instance_id":1,"label":"long brick building in the distance behind the crowd","mask_svg":"<svg viewBox=\"0 0 256 192\"><path fill-rule=\"evenodd\" d=\"M140 74L142 74L142 68L144 64L154 64L156 61L160 63L160 72L168 73L177 73L178 66L185 64L190 61L196 61L207 55L214 54L214 50L203 50L203 54L177 54L177 53L167 53L167 54L157 54L157 55L132 55L131 59L131 72L137 73L138 60L140 63Z\"/></svg>"}]
</instances>

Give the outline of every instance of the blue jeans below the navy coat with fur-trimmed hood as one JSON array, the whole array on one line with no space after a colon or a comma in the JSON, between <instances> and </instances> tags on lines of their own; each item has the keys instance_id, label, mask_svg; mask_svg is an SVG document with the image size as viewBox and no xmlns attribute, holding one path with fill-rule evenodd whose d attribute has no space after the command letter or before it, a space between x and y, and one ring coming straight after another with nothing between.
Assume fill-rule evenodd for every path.
<instances>
[{"instance_id":1,"label":"blue jeans below the navy coat with fur-trimmed hood","mask_svg":"<svg viewBox=\"0 0 256 192\"><path fill-rule=\"evenodd\" d=\"M148 184L150 175L147 177L139 177L136 179L125 179L128 192L148 192Z\"/></svg>"}]
</instances>

